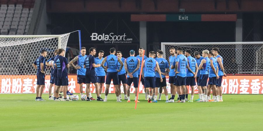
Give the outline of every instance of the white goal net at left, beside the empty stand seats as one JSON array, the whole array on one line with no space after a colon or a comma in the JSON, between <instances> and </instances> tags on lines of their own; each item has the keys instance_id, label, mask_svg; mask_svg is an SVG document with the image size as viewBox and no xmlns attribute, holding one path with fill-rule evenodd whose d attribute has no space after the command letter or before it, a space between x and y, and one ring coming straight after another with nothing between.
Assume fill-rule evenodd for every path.
<instances>
[{"instance_id":1,"label":"white goal net at left, beside the empty stand seats","mask_svg":"<svg viewBox=\"0 0 263 131\"><path fill-rule=\"evenodd\" d=\"M31 89L33 84L36 83L37 73L32 63L41 55L41 50L46 49L48 51L47 61L55 56L53 53L55 49L63 48L66 50L69 36L70 33L62 35L0 36L1 93L19 93L21 86L28 87L25 89ZM45 71L46 77L49 77L51 67L46 66ZM29 91L29 93L31 92Z\"/></svg>"}]
</instances>

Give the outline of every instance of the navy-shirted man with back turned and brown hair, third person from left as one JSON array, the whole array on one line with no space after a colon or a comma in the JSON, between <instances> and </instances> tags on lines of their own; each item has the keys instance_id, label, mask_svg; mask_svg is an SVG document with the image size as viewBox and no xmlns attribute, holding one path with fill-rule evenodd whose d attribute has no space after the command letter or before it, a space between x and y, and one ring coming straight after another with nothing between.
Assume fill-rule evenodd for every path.
<instances>
[{"instance_id":1,"label":"navy-shirted man with back turned and brown hair, third person from left","mask_svg":"<svg viewBox=\"0 0 263 131\"><path fill-rule=\"evenodd\" d=\"M57 68L57 90L56 93L59 93L59 86L62 86L63 89L63 101L71 101L67 99L67 89L68 89L68 69L69 63L67 58L63 57L65 55L64 49L58 49L58 57L56 58L55 66ZM58 98L56 98L58 99Z\"/></svg>"}]
</instances>

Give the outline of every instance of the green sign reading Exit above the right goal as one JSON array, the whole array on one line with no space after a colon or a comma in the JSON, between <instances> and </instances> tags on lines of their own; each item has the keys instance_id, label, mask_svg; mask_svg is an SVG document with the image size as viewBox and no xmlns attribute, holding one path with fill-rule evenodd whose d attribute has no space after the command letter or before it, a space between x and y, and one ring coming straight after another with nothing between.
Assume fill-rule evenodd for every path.
<instances>
[{"instance_id":1,"label":"green sign reading Exit above the right goal","mask_svg":"<svg viewBox=\"0 0 263 131\"><path fill-rule=\"evenodd\" d=\"M166 21L201 21L201 15L166 15Z\"/></svg>"}]
</instances>

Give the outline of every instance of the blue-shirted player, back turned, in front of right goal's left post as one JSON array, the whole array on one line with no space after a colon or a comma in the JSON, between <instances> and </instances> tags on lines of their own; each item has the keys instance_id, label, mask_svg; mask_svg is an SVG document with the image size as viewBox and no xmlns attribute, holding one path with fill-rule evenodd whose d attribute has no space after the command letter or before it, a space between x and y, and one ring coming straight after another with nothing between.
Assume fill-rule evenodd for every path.
<instances>
[{"instance_id":1,"label":"blue-shirted player, back turned, in front of right goal's left post","mask_svg":"<svg viewBox=\"0 0 263 131\"><path fill-rule=\"evenodd\" d=\"M159 51L158 52L158 59L156 59L156 61L158 62L159 64L159 67L160 67L160 71L161 71L161 76L162 76L162 82L160 81L160 75L158 72L156 72L156 79L155 79L155 89L156 88L163 88L164 89L164 92L165 92L165 98L166 98L166 101L168 101L168 92L167 92L167 89L166 89L166 72L169 71L169 65L168 65L168 61L166 59L163 58L163 52L162 51ZM160 90L159 90L160 91ZM162 91L162 90L161 90ZM162 94L162 92L159 92L160 94ZM157 96L157 95L155 95ZM159 95L159 99L160 100L160 95ZM157 102L155 101L155 98L154 98L154 101L153 102Z\"/></svg>"}]
</instances>

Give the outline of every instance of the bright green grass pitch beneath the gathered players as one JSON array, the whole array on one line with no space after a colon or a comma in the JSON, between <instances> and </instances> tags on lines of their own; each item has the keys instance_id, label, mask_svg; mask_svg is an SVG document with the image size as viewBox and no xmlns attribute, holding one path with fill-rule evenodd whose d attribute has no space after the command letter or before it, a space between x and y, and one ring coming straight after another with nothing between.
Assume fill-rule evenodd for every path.
<instances>
[{"instance_id":1,"label":"bright green grass pitch beneath the gathered players","mask_svg":"<svg viewBox=\"0 0 263 131\"><path fill-rule=\"evenodd\" d=\"M46 101L42 102L34 100L35 94L0 94L0 130L240 131L263 127L263 95L223 95L224 102L205 103L165 103L165 95L158 103L148 103L144 97L139 95L141 102L135 110L133 100L116 102L115 94L108 95L108 102L56 102L48 100L48 94L43 94Z\"/></svg>"}]
</instances>

